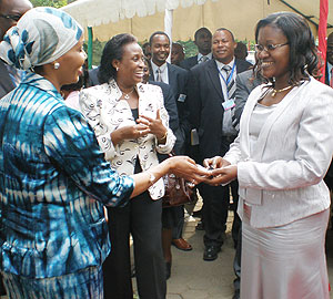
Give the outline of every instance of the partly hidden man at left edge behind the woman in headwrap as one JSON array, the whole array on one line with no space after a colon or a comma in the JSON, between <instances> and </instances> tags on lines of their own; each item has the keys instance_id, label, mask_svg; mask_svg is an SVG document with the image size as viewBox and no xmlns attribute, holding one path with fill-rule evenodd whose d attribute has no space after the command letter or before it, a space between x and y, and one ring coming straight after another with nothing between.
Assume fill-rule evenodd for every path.
<instances>
[{"instance_id":1,"label":"partly hidden man at left edge behind the woman in headwrap","mask_svg":"<svg viewBox=\"0 0 333 299\"><path fill-rule=\"evenodd\" d=\"M0 41L8 29L16 25L17 21L32 4L28 0L1 0L0 1ZM14 68L4 64L0 60L0 99L12 91L20 82L20 74Z\"/></svg>"}]
</instances>

